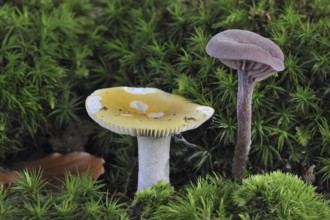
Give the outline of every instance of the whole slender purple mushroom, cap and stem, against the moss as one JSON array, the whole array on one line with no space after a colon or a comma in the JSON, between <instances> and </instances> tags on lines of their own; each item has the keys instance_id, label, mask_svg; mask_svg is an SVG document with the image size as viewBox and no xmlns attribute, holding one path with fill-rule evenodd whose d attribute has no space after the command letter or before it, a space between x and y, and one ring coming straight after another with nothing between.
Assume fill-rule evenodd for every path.
<instances>
[{"instance_id":1,"label":"whole slender purple mushroom, cap and stem, against the moss","mask_svg":"<svg viewBox=\"0 0 330 220\"><path fill-rule=\"evenodd\" d=\"M251 145L252 94L255 82L284 70L284 55L271 40L245 30L227 30L213 36L206 46L208 55L237 70L237 142L232 172L241 180Z\"/></svg>"}]
</instances>

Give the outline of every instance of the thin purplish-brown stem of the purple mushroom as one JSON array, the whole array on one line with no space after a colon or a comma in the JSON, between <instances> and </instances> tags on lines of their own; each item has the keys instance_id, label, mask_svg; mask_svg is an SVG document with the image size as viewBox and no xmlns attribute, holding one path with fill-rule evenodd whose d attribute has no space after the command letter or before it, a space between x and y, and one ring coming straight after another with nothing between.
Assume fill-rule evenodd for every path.
<instances>
[{"instance_id":1,"label":"thin purplish-brown stem of the purple mushroom","mask_svg":"<svg viewBox=\"0 0 330 220\"><path fill-rule=\"evenodd\" d=\"M237 142L233 161L233 175L240 181L248 160L251 145L252 94L254 81L246 71L238 70Z\"/></svg>"}]
</instances>

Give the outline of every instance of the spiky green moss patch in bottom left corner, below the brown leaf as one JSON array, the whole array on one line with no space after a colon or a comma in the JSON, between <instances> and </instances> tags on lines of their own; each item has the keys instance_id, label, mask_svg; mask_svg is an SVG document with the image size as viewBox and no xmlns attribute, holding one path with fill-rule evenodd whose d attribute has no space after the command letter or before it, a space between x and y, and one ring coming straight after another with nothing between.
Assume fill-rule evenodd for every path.
<instances>
[{"instance_id":1,"label":"spiky green moss patch in bottom left corner, below the brown leaf","mask_svg":"<svg viewBox=\"0 0 330 220\"><path fill-rule=\"evenodd\" d=\"M1 219L128 219L126 204L87 174L66 175L54 187L40 172L26 172L10 187L0 188Z\"/></svg>"}]
</instances>

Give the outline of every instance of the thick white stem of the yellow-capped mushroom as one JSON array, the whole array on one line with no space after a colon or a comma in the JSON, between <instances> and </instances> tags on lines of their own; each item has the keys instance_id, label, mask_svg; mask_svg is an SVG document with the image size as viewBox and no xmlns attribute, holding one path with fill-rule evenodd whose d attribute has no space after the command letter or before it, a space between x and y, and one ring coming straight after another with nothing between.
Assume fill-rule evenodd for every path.
<instances>
[{"instance_id":1,"label":"thick white stem of the yellow-capped mushroom","mask_svg":"<svg viewBox=\"0 0 330 220\"><path fill-rule=\"evenodd\" d=\"M139 175L138 189L149 188L158 181L170 182L171 136L153 138L138 136Z\"/></svg>"}]
</instances>

